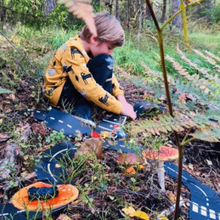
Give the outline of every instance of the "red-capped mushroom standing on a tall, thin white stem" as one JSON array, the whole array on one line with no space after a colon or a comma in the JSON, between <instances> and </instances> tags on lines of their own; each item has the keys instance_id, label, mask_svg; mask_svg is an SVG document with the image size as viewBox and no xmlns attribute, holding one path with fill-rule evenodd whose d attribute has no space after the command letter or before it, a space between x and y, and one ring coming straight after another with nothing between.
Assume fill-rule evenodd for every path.
<instances>
[{"instance_id":1,"label":"red-capped mushroom standing on a tall, thin white stem","mask_svg":"<svg viewBox=\"0 0 220 220\"><path fill-rule=\"evenodd\" d=\"M158 162L158 179L161 190L165 190L164 184L164 161L178 159L178 150L175 148L161 146L160 150L144 150L142 151L144 158L157 160Z\"/></svg>"}]
</instances>

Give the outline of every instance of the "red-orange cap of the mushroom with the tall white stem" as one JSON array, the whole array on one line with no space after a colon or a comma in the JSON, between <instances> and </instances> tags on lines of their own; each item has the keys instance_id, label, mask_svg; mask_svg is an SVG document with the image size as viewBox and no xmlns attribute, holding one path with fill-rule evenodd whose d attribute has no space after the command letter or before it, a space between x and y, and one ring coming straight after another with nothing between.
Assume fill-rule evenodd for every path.
<instances>
[{"instance_id":1,"label":"red-orange cap of the mushroom with the tall white stem","mask_svg":"<svg viewBox=\"0 0 220 220\"><path fill-rule=\"evenodd\" d=\"M144 150L142 155L144 158L158 161L176 160L179 157L177 149L167 146L161 146L160 150Z\"/></svg>"}]
</instances>

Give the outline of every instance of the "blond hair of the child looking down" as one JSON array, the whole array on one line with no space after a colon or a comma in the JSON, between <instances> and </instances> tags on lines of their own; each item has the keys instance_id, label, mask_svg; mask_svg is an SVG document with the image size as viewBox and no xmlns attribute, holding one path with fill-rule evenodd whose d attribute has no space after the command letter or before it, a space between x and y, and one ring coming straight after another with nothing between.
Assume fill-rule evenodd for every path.
<instances>
[{"instance_id":1,"label":"blond hair of the child looking down","mask_svg":"<svg viewBox=\"0 0 220 220\"><path fill-rule=\"evenodd\" d=\"M95 40L100 41L100 43L109 43L113 48L124 44L124 30L115 16L106 12L97 13L94 20L97 28ZM80 38L89 43L91 36L88 26L85 25L80 33Z\"/></svg>"}]
</instances>

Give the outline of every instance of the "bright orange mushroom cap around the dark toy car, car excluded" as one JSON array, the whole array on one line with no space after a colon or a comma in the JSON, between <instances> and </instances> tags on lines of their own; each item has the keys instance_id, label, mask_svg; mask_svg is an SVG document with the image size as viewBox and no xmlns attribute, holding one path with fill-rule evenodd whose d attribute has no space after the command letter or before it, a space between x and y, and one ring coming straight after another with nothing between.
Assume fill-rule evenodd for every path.
<instances>
[{"instance_id":1,"label":"bright orange mushroom cap around the dark toy car, car excluded","mask_svg":"<svg viewBox=\"0 0 220 220\"><path fill-rule=\"evenodd\" d=\"M12 204L16 208L21 210L27 209L29 211L43 211L46 209L56 209L72 202L79 195L78 189L71 184L57 185L59 191L57 197L48 200L29 201L28 189L31 187L52 187L52 185L43 182L37 182L20 189L12 197Z\"/></svg>"}]
</instances>

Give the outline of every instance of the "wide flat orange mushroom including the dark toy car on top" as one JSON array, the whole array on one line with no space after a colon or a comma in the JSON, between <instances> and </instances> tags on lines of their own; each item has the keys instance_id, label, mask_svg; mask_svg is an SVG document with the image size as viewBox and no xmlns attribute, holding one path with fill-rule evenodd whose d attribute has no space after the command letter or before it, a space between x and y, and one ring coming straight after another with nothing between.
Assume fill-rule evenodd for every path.
<instances>
[{"instance_id":1,"label":"wide flat orange mushroom including the dark toy car on top","mask_svg":"<svg viewBox=\"0 0 220 220\"><path fill-rule=\"evenodd\" d=\"M29 193L31 189L35 191L32 195ZM48 195L49 193L40 195L39 191L41 189L45 192L50 192L52 189L52 193L51 195ZM16 192L12 197L12 203L21 210L42 211L44 216L47 210L67 205L75 200L78 195L78 189L71 184L52 186L47 183L36 182Z\"/></svg>"}]
</instances>

